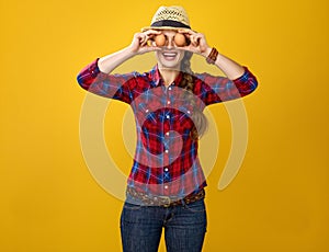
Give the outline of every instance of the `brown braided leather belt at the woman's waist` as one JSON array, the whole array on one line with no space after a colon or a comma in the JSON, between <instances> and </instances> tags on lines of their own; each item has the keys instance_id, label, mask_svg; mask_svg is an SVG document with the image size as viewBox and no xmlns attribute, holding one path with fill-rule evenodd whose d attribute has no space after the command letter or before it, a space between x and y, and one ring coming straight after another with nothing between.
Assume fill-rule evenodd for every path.
<instances>
[{"instance_id":1,"label":"brown braided leather belt at the woman's waist","mask_svg":"<svg viewBox=\"0 0 329 252\"><path fill-rule=\"evenodd\" d=\"M126 193L131 195L133 198L140 201L146 206L162 206L162 207L170 207L170 206L179 206L183 204L190 204L196 202L201 198L205 197L205 191L202 188L197 193L189 194L188 196L180 198L180 197L169 197L169 196L156 196L149 195L143 192L138 192L133 187L127 187Z\"/></svg>"}]
</instances>

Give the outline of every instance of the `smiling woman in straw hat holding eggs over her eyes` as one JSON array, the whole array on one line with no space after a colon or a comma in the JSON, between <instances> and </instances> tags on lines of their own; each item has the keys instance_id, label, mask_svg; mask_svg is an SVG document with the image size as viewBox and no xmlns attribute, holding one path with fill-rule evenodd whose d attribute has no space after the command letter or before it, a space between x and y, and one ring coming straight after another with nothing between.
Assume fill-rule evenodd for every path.
<instances>
[{"instance_id":1,"label":"smiling woman in straw hat holding eggs over her eyes","mask_svg":"<svg viewBox=\"0 0 329 252\"><path fill-rule=\"evenodd\" d=\"M157 58L150 71L110 75L149 51ZM226 77L193 73L193 54ZM198 138L207 128L203 110L251 93L254 76L192 31L183 8L160 7L129 46L94 60L78 82L128 103L135 114L137 146L121 217L123 251L156 252L163 228L167 251L201 251L206 232L206 181L197 159Z\"/></svg>"}]
</instances>

